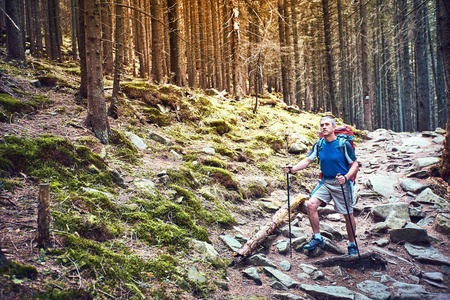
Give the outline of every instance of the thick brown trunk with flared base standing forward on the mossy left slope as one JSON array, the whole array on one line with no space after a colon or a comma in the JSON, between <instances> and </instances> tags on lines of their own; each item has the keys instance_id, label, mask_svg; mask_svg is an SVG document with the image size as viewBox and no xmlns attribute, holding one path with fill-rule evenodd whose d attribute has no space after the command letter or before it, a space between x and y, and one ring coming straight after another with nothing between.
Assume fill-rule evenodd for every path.
<instances>
[{"instance_id":1,"label":"thick brown trunk with flared base standing forward on the mossy left slope","mask_svg":"<svg viewBox=\"0 0 450 300\"><path fill-rule=\"evenodd\" d=\"M100 0L84 3L86 25L86 66L88 75L88 109L85 125L103 143L109 143L110 128L103 93Z\"/></svg>"}]
</instances>

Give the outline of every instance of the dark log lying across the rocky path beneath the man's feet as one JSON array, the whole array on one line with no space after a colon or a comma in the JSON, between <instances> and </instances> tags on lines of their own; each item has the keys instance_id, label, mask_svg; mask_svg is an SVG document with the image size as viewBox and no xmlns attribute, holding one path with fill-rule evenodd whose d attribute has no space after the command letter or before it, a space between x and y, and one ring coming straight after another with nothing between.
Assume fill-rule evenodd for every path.
<instances>
[{"instance_id":1,"label":"dark log lying across the rocky path beneath the man's feet","mask_svg":"<svg viewBox=\"0 0 450 300\"><path fill-rule=\"evenodd\" d=\"M384 259L378 253L375 252L363 253L361 254L361 260L364 269L373 269L373 270L386 269L387 260ZM325 259L317 260L314 262L314 264L322 267L340 266L346 269L358 269L361 267L358 255L331 256Z\"/></svg>"}]
</instances>

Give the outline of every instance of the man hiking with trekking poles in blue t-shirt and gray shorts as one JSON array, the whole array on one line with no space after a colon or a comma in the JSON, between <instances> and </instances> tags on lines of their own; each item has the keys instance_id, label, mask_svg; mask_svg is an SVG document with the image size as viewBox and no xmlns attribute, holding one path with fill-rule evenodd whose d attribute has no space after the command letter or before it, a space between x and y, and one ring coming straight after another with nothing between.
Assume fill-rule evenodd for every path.
<instances>
[{"instance_id":1,"label":"man hiking with trekking poles in blue t-shirt and gray shorts","mask_svg":"<svg viewBox=\"0 0 450 300\"><path fill-rule=\"evenodd\" d=\"M319 214L317 213L317 209L319 206L326 206L333 199L336 212L342 214L345 218L349 240L348 254L357 255L358 252L351 227L353 225L356 231L355 219L353 217L353 186L350 180L358 171L358 162L356 161L355 152L348 141L345 141L345 155L342 154L339 149L338 138L334 134L335 128L336 122L332 117L325 116L320 119L320 131L324 137L323 140L320 140L322 141L320 152L318 152L319 142L317 142L305 159L293 167L287 165L284 171L285 173L297 172L308 167L315 158L320 159L320 169L323 177L307 202L308 218L313 230L313 237L303 248L313 250L316 247L323 248L325 246L325 242L319 231ZM341 186L344 187L349 213L347 213ZM350 222L352 223L350 224Z\"/></svg>"}]
</instances>

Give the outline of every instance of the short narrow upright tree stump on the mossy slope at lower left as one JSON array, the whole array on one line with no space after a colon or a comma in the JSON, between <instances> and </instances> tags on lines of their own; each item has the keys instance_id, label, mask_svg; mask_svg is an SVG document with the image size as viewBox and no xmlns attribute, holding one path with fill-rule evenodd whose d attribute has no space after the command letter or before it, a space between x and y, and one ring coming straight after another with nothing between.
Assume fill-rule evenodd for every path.
<instances>
[{"instance_id":1,"label":"short narrow upright tree stump on the mossy slope at lower left","mask_svg":"<svg viewBox=\"0 0 450 300\"><path fill-rule=\"evenodd\" d=\"M36 238L39 248L50 244L50 184L39 186L38 233Z\"/></svg>"}]
</instances>

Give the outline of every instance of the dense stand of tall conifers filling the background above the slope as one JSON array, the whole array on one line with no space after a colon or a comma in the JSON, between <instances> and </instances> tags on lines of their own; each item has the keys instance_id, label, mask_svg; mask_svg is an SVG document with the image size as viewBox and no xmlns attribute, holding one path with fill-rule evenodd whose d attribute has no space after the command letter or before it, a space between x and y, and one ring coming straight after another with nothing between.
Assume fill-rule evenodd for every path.
<instances>
[{"instance_id":1,"label":"dense stand of tall conifers filling the background above the slope","mask_svg":"<svg viewBox=\"0 0 450 300\"><path fill-rule=\"evenodd\" d=\"M115 80L214 88L237 99L274 91L358 128L424 131L448 119L438 2L6 1L0 30L15 20L9 55L18 60L26 48L80 61L83 75L86 54L97 51ZM82 81L83 97L86 88Z\"/></svg>"}]
</instances>

